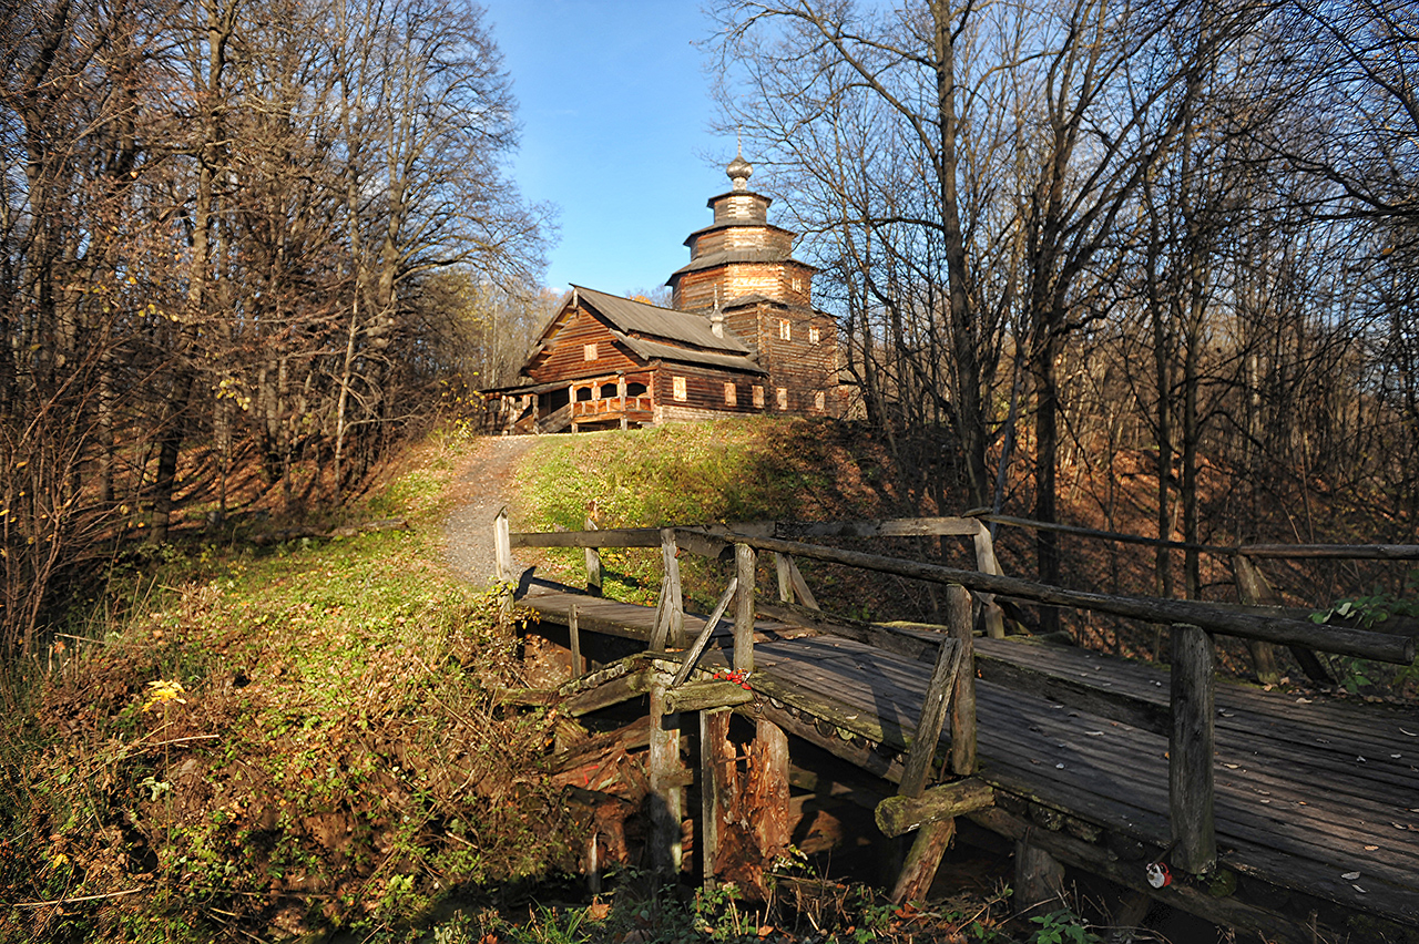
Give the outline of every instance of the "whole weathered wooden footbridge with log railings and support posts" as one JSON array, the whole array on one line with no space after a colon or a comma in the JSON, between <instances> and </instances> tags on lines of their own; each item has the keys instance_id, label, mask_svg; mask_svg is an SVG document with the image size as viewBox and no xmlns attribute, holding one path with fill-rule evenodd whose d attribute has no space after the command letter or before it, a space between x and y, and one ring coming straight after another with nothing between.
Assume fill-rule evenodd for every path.
<instances>
[{"instance_id":1,"label":"whole weathered wooden footbridge with log railings and support posts","mask_svg":"<svg viewBox=\"0 0 1419 944\"><path fill-rule=\"evenodd\" d=\"M518 592L543 624L568 628L569 713L648 696L650 726L636 730L648 744L660 867L681 865L685 787L701 798L707 882L744 882L736 863L772 858L788 842L790 746L802 740L880 785L884 835L914 833L898 900L925 894L965 816L1015 843L1017 907L1059 894L1067 865L1131 890L1135 913L1161 900L1263 940L1419 940L1419 710L1219 683L1213 666L1216 635L1247 639L1261 662L1269 645L1287 645L1402 665L1412 635L1003 577L976 519L509 534L499 516L497 534L504 581L517 581L512 549L586 549L587 591L524 578ZM978 570L802 540L907 534L968 537ZM599 597L596 549L657 546L656 608ZM708 617L683 608L684 553L735 561ZM773 556L776 600L755 594L761 554ZM944 585L945 625L824 614L800 558ZM1168 625L1171 672L1006 638L998 598ZM582 675L580 651L596 639L636 652ZM698 774L683 765L690 713ZM751 744L731 744L731 713L753 721Z\"/></svg>"}]
</instances>

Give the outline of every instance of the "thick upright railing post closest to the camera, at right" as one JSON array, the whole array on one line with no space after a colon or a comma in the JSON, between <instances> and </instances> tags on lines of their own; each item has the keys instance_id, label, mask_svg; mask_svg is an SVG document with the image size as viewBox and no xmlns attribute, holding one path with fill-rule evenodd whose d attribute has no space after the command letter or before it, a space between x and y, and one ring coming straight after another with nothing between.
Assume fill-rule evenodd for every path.
<instances>
[{"instance_id":1,"label":"thick upright railing post closest to the camera, at right","mask_svg":"<svg viewBox=\"0 0 1419 944\"><path fill-rule=\"evenodd\" d=\"M1210 869L1218 860L1213 826L1213 753L1216 731L1215 653L1212 638L1196 626L1172 628L1172 736L1168 741L1168 821L1172 863L1183 872Z\"/></svg>"}]
</instances>

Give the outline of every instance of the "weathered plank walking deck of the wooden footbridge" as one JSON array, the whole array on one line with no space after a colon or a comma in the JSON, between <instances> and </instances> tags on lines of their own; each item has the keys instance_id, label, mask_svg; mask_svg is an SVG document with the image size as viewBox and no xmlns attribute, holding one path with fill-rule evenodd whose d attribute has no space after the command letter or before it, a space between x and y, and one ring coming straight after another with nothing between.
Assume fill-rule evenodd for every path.
<instances>
[{"instance_id":1,"label":"weathered plank walking deck of the wooden footbridge","mask_svg":"<svg viewBox=\"0 0 1419 944\"><path fill-rule=\"evenodd\" d=\"M647 639L647 607L535 588L524 604ZM702 618L685 615L687 632ZM902 744L931 666L759 621L758 692ZM729 632L729 624L721 624ZM978 653L1166 707L1165 668L1067 646L978 639ZM722 658L722 656L719 656ZM707 665L718 662L711 652ZM1277 889L1419 927L1419 712L1219 682L1216 835L1223 865ZM827 710L824 710L827 709ZM1013 689L976 687L981 777L998 790L1166 848L1168 738ZM1141 867L1141 865L1139 865ZM1345 877L1359 873L1358 877ZM1276 910L1287 913L1284 903ZM1304 920L1304 913L1291 917Z\"/></svg>"}]
</instances>

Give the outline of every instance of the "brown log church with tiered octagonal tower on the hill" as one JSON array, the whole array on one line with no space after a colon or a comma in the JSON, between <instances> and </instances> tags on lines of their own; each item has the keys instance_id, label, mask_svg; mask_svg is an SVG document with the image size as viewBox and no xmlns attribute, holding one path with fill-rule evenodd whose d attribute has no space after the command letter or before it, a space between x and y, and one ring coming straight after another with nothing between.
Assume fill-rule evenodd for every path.
<instances>
[{"instance_id":1,"label":"brown log church with tiered octagonal tower on the hill","mask_svg":"<svg viewBox=\"0 0 1419 944\"><path fill-rule=\"evenodd\" d=\"M837 326L813 309L815 268L769 223L738 156L714 223L685 240L690 262L660 308L579 285L543 329L522 383L484 391L508 432L626 429L727 414L840 412Z\"/></svg>"}]
</instances>

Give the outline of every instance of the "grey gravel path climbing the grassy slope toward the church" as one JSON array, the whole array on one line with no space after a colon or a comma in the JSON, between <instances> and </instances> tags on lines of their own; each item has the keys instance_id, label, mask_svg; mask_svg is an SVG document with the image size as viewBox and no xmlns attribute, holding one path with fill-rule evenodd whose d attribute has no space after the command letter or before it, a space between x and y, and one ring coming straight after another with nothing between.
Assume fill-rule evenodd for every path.
<instances>
[{"instance_id":1,"label":"grey gravel path climbing the grassy slope toward the church","mask_svg":"<svg viewBox=\"0 0 1419 944\"><path fill-rule=\"evenodd\" d=\"M497 558L492 519L504 506L514 516L514 473L536 437L485 437L478 441L454 485L458 507L444 523L448 566L478 587L492 583Z\"/></svg>"}]
</instances>

